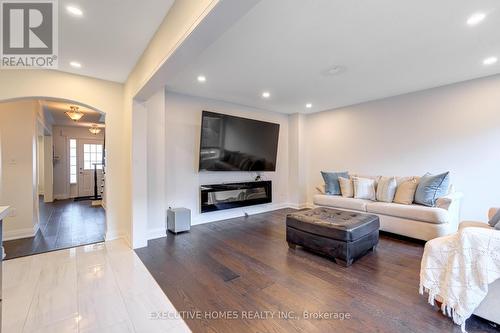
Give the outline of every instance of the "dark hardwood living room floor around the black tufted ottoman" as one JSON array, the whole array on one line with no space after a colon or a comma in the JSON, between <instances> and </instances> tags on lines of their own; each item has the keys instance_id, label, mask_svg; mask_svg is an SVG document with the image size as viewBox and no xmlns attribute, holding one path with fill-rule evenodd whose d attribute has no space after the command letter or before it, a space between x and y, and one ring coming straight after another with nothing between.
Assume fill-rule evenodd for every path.
<instances>
[{"instance_id":1,"label":"dark hardwood living room floor around the black tufted ottoman","mask_svg":"<svg viewBox=\"0 0 500 333\"><path fill-rule=\"evenodd\" d=\"M376 252L345 268L288 249L290 211L194 226L136 253L177 311L201 314L184 316L193 332L460 332L418 294L422 244L381 235ZM247 311L247 318L237 312L237 319L211 319L212 311ZM261 319L248 311L261 311ZM292 318L277 318L278 311L293 311ZM304 311L351 319L304 319ZM467 329L496 332L477 317Z\"/></svg>"}]
</instances>

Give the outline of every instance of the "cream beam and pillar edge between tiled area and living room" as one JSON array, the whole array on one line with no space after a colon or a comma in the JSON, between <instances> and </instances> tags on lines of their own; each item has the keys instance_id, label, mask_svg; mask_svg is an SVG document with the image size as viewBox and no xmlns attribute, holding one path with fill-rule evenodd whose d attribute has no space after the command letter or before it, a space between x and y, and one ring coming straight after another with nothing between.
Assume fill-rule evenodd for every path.
<instances>
[{"instance_id":1,"label":"cream beam and pillar edge between tiled area and living room","mask_svg":"<svg viewBox=\"0 0 500 333\"><path fill-rule=\"evenodd\" d=\"M124 196L122 201L127 202L128 205L120 207L120 215L128 224L127 234L134 248L146 246L148 238L147 221L141 216L141 212L144 210L144 198L141 197L143 188L136 179L132 178L132 175L144 176L144 168L146 167L140 161L140 156L143 154L135 149L143 144L143 139L140 138L144 125L142 121L146 120L141 119L145 117L142 114L145 112L143 104L157 91L151 87L161 86L162 83L159 82L163 82L163 79L167 77L164 73L163 75L158 74L162 65L218 2L219 0L176 0L125 82L122 118L126 135L121 144L124 148L124 155L128 156L126 161L123 160L122 172L128 175L128 178L124 179L121 184L121 193ZM155 76L155 74L158 75ZM141 90L142 94L138 97ZM150 91L151 94L144 92L144 90ZM133 123L133 120L140 120L139 128L135 128L136 124ZM132 142L132 139L137 140L137 142ZM139 157L133 155L135 153L138 153Z\"/></svg>"}]
</instances>

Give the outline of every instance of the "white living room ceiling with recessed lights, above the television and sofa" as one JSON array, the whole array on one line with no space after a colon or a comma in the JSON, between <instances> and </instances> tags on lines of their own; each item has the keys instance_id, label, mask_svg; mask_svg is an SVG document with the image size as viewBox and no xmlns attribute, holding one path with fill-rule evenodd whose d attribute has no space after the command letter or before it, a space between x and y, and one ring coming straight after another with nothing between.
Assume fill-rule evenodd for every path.
<instances>
[{"instance_id":1,"label":"white living room ceiling with recessed lights, above the television and sofa","mask_svg":"<svg viewBox=\"0 0 500 333\"><path fill-rule=\"evenodd\" d=\"M263 0L167 89L296 113L493 75L500 62L482 61L500 58L498 9L498 0ZM469 27L477 11L488 16ZM325 75L334 65L344 70ZM200 74L206 83L197 82Z\"/></svg>"}]
</instances>

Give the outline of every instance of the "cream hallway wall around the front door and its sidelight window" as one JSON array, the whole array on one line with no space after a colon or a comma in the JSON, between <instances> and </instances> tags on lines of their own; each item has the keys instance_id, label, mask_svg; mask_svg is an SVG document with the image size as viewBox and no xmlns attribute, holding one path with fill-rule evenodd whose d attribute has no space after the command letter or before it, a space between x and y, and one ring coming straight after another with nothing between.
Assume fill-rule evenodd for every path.
<instances>
[{"instance_id":1,"label":"cream hallway wall around the front door and its sidelight window","mask_svg":"<svg viewBox=\"0 0 500 333\"><path fill-rule=\"evenodd\" d=\"M90 139L104 142L103 129L94 135L88 128L75 126L53 126L52 140L54 153L60 159L54 162L54 197L58 200L74 198L78 196L77 184L69 183L69 139ZM77 152L78 153L78 152Z\"/></svg>"}]
</instances>

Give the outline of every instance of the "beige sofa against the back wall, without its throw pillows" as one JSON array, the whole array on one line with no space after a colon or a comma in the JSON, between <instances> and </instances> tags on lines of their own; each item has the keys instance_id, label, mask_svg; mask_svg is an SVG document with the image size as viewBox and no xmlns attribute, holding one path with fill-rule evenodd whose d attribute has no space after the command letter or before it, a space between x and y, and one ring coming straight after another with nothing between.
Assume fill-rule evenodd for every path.
<instances>
[{"instance_id":1,"label":"beige sofa against the back wall, without its throw pillows","mask_svg":"<svg viewBox=\"0 0 500 333\"><path fill-rule=\"evenodd\" d=\"M461 193L451 192L438 199L437 207L426 207L321 193L314 195L313 203L316 206L375 214L380 219L380 230L427 241L458 230L461 198Z\"/></svg>"}]
</instances>

